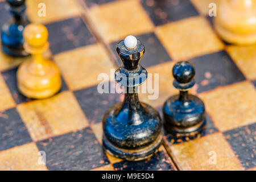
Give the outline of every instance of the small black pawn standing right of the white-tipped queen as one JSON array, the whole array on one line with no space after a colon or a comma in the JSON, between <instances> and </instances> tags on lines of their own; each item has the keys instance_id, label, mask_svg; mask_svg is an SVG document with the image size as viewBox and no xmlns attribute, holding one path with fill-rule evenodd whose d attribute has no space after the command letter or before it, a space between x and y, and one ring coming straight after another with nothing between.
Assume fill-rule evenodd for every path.
<instances>
[{"instance_id":1,"label":"small black pawn standing right of the white-tipped queen","mask_svg":"<svg viewBox=\"0 0 256 182\"><path fill-rule=\"evenodd\" d=\"M200 98L188 94L195 85L195 67L188 61L174 65L174 86L180 94L168 98L163 106L164 127L176 137L199 133L205 125L205 107Z\"/></svg>"}]
</instances>

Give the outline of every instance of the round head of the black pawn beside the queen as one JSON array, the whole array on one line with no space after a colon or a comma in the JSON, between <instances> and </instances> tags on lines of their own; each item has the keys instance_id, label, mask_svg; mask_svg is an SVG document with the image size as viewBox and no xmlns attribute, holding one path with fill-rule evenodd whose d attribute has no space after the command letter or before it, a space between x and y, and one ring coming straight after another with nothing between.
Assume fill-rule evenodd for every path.
<instances>
[{"instance_id":1,"label":"round head of the black pawn beside the queen","mask_svg":"<svg viewBox=\"0 0 256 182\"><path fill-rule=\"evenodd\" d=\"M192 63L188 61L180 61L172 68L172 75L177 82L185 84L191 82L195 77L196 71Z\"/></svg>"}]
</instances>

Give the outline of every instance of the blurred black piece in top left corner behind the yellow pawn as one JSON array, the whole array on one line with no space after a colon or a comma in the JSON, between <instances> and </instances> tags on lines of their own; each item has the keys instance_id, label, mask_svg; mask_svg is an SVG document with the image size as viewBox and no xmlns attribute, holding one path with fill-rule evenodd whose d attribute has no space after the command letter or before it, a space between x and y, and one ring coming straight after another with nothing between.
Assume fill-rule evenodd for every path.
<instances>
[{"instance_id":1,"label":"blurred black piece in top left corner behind the yellow pawn","mask_svg":"<svg viewBox=\"0 0 256 182\"><path fill-rule=\"evenodd\" d=\"M6 0L6 2L13 18L2 26L2 51L10 56L27 56L28 53L23 49L23 30L29 23L24 15L25 0Z\"/></svg>"}]
</instances>

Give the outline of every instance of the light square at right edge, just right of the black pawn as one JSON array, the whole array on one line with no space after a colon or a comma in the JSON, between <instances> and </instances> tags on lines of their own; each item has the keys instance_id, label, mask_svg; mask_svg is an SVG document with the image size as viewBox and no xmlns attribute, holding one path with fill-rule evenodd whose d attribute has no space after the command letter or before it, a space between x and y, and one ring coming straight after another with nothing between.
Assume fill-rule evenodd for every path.
<instances>
[{"instance_id":1,"label":"light square at right edge, just right of the black pawn","mask_svg":"<svg viewBox=\"0 0 256 182\"><path fill-rule=\"evenodd\" d=\"M256 90L249 81L200 94L214 125L227 131L256 121Z\"/></svg>"}]
</instances>

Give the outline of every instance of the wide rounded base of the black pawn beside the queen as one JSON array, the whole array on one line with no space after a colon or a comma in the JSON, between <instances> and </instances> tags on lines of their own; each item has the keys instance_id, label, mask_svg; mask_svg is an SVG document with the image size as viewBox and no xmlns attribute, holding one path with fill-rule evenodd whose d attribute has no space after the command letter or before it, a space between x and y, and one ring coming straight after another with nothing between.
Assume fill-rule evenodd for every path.
<instances>
[{"instance_id":1,"label":"wide rounded base of the black pawn beside the queen","mask_svg":"<svg viewBox=\"0 0 256 182\"><path fill-rule=\"evenodd\" d=\"M163 106L164 127L176 137L196 135L205 125L205 107L200 98L188 95L181 101L179 95L172 96Z\"/></svg>"}]
</instances>

